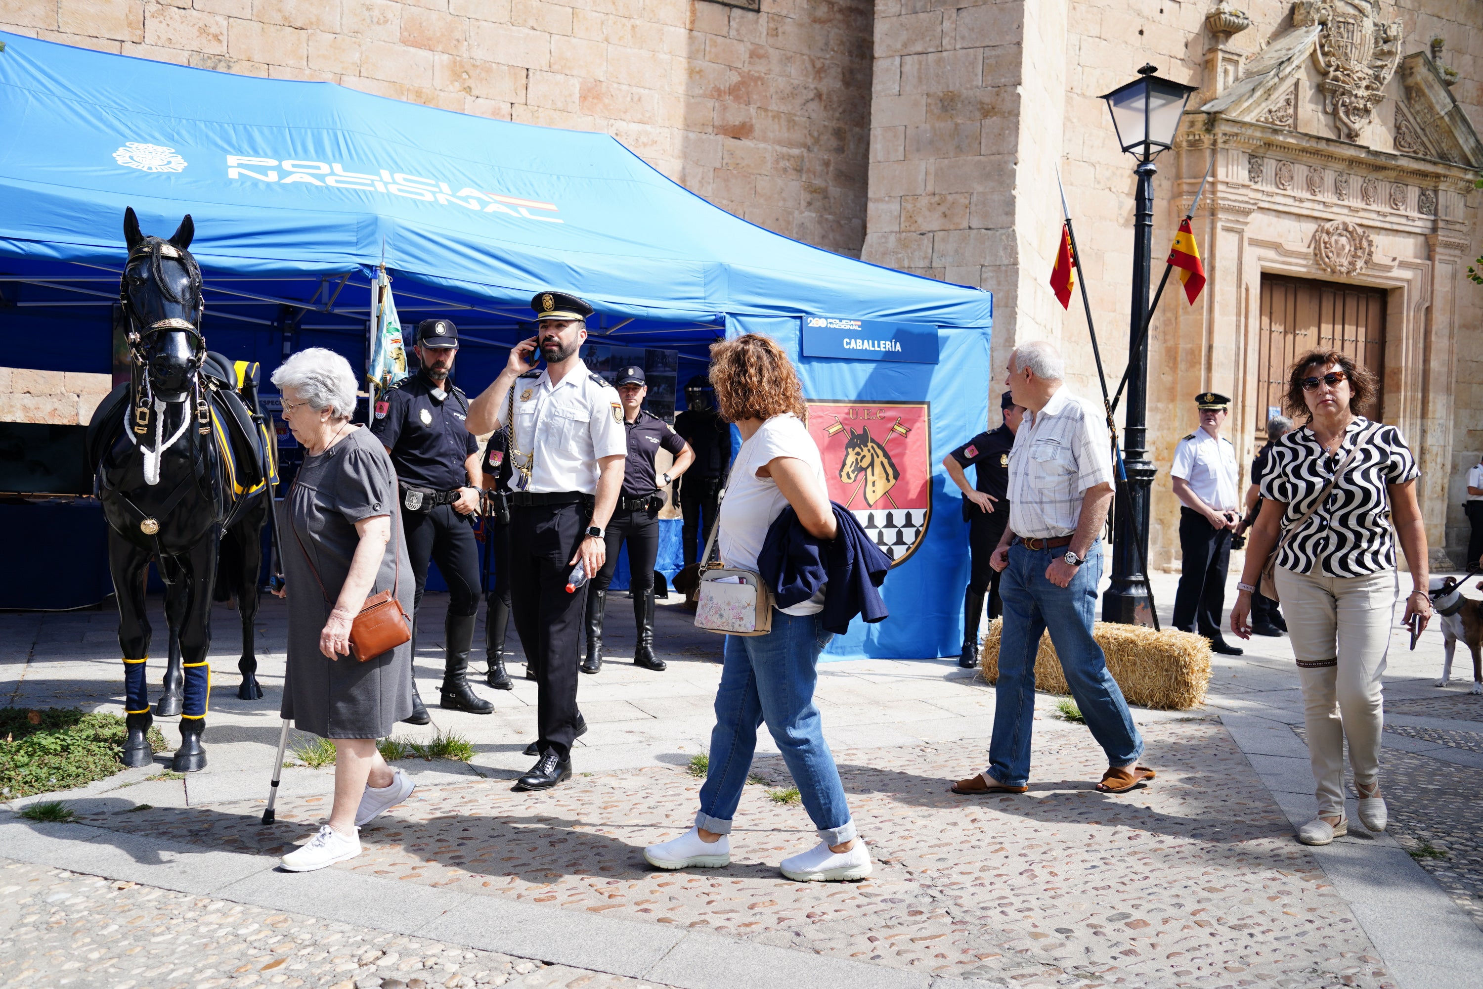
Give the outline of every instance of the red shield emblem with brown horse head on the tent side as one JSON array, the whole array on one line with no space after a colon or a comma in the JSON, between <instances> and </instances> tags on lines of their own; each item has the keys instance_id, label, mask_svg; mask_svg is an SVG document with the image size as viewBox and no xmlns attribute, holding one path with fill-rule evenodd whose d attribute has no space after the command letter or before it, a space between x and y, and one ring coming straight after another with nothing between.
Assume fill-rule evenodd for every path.
<instances>
[{"instance_id":1,"label":"red shield emblem with brown horse head on the tent side","mask_svg":"<svg viewBox=\"0 0 1483 989\"><path fill-rule=\"evenodd\" d=\"M810 400L808 434L830 501L854 513L891 566L915 553L931 519L931 405Z\"/></svg>"}]
</instances>

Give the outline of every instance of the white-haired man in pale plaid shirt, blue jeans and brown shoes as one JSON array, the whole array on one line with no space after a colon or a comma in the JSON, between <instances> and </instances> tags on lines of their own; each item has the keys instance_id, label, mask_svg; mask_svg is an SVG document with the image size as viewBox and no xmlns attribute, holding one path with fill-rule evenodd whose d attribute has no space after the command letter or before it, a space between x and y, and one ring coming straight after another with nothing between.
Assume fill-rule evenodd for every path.
<instances>
[{"instance_id":1,"label":"white-haired man in pale plaid shirt, blue jeans and brown shoes","mask_svg":"<svg viewBox=\"0 0 1483 989\"><path fill-rule=\"evenodd\" d=\"M1010 523L994 552L1004 627L989 765L954 784L982 796L1029 789L1035 652L1050 629L1071 695L1108 756L1097 789L1124 793L1154 773L1137 765L1143 738L1091 638L1102 580L1102 532L1112 504L1112 455L1102 409L1063 387L1065 362L1046 341L1010 354L1005 384L1029 412L1010 451Z\"/></svg>"}]
</instances>

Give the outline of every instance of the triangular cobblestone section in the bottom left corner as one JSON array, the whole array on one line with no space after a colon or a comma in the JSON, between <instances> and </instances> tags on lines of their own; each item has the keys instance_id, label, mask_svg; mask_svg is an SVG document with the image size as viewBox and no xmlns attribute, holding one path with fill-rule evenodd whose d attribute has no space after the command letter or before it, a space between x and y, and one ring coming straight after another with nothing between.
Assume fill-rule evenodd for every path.
<instances>
[{"instance_id":1,"label":"triangular cobblestone section in the bottom left corner","mask_svg":"<svg viewBox=\"0 0 1483 989\"><path fill-rule=\"evenodd\" d=\"M0 986L647 985L653 983L0 859Z\"/></svg>"}]
</instances>

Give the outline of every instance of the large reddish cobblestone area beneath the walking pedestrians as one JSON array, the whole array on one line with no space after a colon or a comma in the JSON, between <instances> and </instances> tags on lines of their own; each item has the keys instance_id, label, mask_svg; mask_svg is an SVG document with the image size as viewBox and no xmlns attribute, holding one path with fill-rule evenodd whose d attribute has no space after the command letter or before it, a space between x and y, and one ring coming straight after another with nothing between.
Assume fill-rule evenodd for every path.
<instances>
[{"instance_id":1,"label":"large reddish cobblestone area beneath the walking pedestrians","mask_svg":"<svg viewBox=\"0 0 1483 989\"><path fill-rule=\"evenodd\" d=\"M859 884L779 876L779 859L814 838L802 808L765 786L742 801L730 867L651 870L642 847L690 826L700 786L667 767L583 774L546 793L495 780L424 787L335 867L1023 986L1391 985L1223 727L1146 728L1158 780L1123 796L1093 790L1105 767L1084 728L1038 721L1037 732L1031 793L989 801L948 792L982 758L962 744L836 752L876 861ZM776 758L755 770L787 784ZM258 802L83 820L282 854L326 807L289 798L273 829Z\"/></svg>"}]
</instances>

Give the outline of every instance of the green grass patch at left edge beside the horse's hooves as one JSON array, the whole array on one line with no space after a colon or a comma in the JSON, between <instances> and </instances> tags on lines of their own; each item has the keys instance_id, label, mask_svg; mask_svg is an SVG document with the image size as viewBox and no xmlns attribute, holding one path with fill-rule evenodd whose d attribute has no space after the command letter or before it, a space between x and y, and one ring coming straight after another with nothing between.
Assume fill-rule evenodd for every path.
<instances>
[{"instance_id":1,"label":"green grass patch at left edge beside the horse's hooves","mask_svg":"<svg viewBox=\"0 0 1483 989\"><path fill-rule=\"evenodd\" d=\"M119 715L85 715L76 707L0 707L0 798L70 790L123 768L119 755L128 728ZM150 728L150 744L165 735Z\"/></svg>"}]
</instances>

